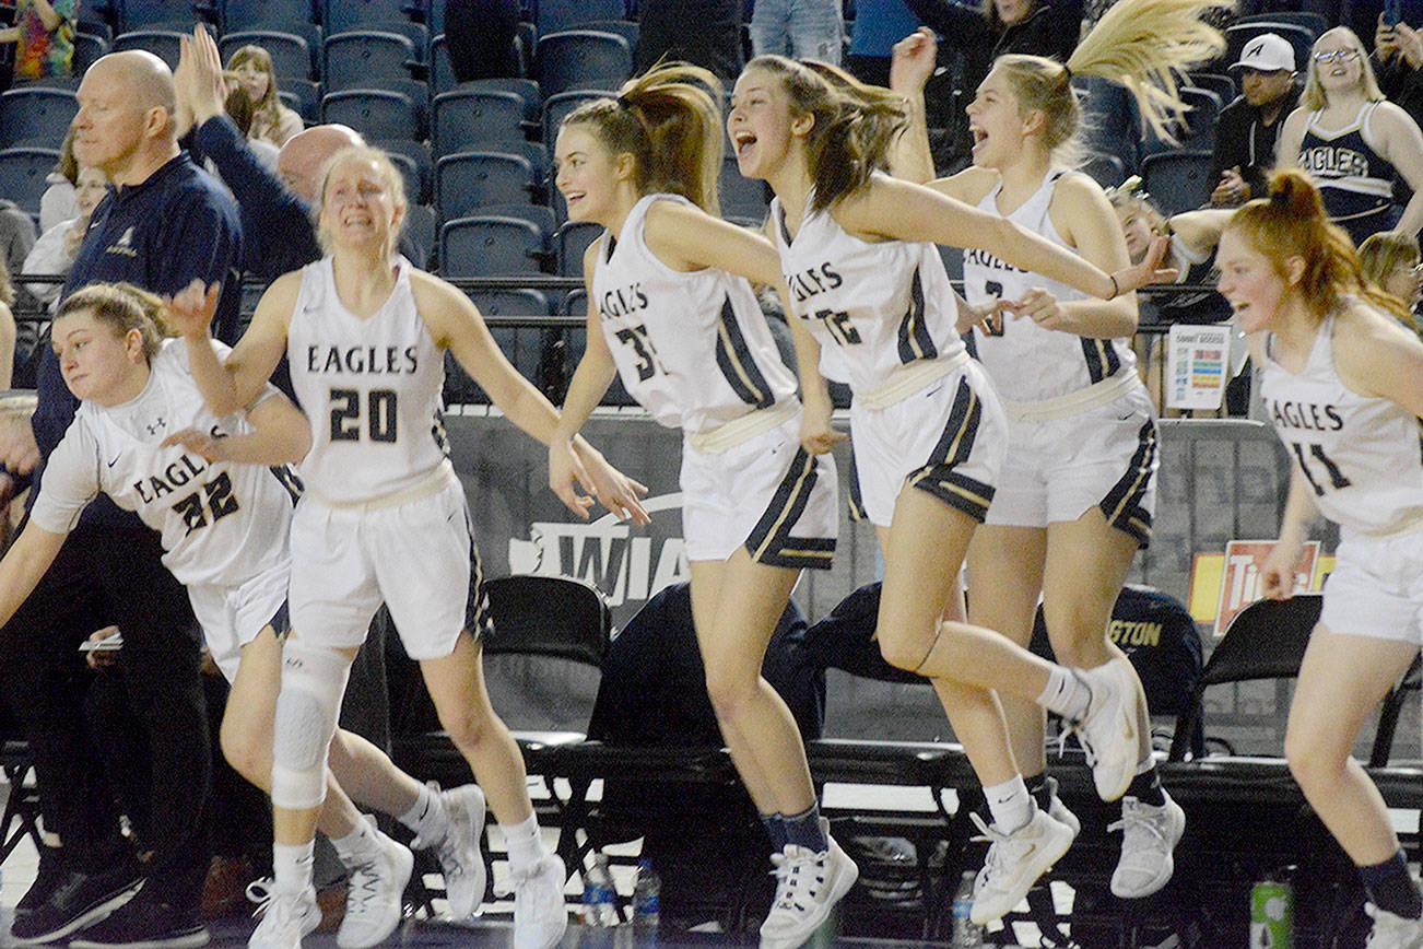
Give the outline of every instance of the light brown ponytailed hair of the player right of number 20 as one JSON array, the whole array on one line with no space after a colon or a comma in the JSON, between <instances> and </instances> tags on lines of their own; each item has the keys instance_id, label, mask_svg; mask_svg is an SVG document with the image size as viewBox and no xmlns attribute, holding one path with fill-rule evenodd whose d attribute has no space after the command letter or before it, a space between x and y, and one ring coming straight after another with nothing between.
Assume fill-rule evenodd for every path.
<instances>
[{"instance_id":1,"label":"light brown ponytailed hair of the player right of number 20","mask_svg":"<svg viewBox=\"0 0 1423 949\"><path fill-rule=\"evenodd\" d=\"M639 195L682 195L720 215L717 178L726 154L721 83L686 63L659 64L623 84L616 98L601 98L564 118L561 128L588 125L613 155L633 158Z\"/></svg>"}]
</instances>

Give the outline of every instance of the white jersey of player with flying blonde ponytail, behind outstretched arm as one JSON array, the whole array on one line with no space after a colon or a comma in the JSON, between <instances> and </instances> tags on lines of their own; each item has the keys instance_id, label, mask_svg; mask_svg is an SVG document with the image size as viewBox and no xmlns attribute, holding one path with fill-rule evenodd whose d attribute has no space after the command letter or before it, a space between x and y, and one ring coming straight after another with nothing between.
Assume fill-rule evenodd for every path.
<instances>
[{"instance_id":1,"label":"white jersey of player with flying blonde ponytail, behind outstretched arm","mask_svg":"<svg viewBox=\"0 0 1423 949\"><path fill-rule=\"evenodd\" d=\"M1067 174L1076 172L1063 169L1049 172L1032 198L1013 213L1000 216L1072 250L1053 228L1047 213L1057 182ZM1002 185L995 186L985 195L978 203L979 211L998 215L1000 189ZM1017 300L1029 290L1046 290L1062 302L1087 299L1086 293L1066 283L1019 270L986 250L978 248L963 250L963 299L969 303L986 303L995 297ZM1136 356L1124 339L1094 340L1059 330L1044 330L1033 320L1012 316L1003 319L1003 330L999 334L989 334L980 326L973 327L972 351L988 369L998 390L1019 403L1059 398L1111 378L1117 373L1133 371L1136 367Z\"/></svg>"}]
</instances>

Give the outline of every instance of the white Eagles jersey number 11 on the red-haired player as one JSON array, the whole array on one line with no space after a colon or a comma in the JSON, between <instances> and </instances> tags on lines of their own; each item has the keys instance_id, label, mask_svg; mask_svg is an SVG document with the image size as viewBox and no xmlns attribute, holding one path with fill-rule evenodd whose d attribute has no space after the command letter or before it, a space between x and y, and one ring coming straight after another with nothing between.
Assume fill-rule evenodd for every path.
<instances>
[{"instance_id":1,"label":"white Eagles jersey number 11 on the red-haired player","mask_svg":"<svg viewBox=\"0 0 1423 949\"><path fill-rule=\"evenodd\" d=\"M1309 360L1289 373L1265 341L1261 398L1319 512L1346 532L1386 535L1423 525L1423 438L1419 420L1389 398L1339 381L1333 317L1315 334Z\"/></svg>"}]
</instances>

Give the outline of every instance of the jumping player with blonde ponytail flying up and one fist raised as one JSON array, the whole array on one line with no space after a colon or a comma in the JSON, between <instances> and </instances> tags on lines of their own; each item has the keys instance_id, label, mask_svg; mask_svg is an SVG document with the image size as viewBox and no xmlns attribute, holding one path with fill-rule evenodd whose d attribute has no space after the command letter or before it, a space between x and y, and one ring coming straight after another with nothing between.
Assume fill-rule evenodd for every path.
<instances>
[{"instance_id":1,"label":"jumping player with blonde ponytail flying up and one fist raised","mask_svg":"<svg viewBox=\"0 0 1423 949\"><path fill-rule=\"evenodd\" d=\"M1178 4L1173 21L1163 20L1160 4L1127 0L1097 23L1067 65L998 57L968 107L973 166L931 186L1101 267L1123 266L1127 245L1107 196L1060 164L1080 127L1070 80L1090 74L1144 88L1155 75L1207 58L1224 46L1197 18L1210 6ZM922 102L932 34L916 33L896 54L902 91ZM1173 102L1183 108L1158 91L1138 102L1157 127L1170 120ZM924 166L928 141L924 132L915 138ZM976 324L970 339L1003 396L1007 458L969 546L969 619L1026 646L1042 599L1060 662L1096 669L1116 660L1130 670L1107 629L1137 548L1150 539L1157 470L1154 411L1128 346L1136 297L1094 300L979 248L963 253L963 295L979 307L1007 304L1006 316ZM1077 828L1044 775L1042 709L1005 700L1005 713L1035 798ZM1123 854L1111 878L1111 891L1127 899L1167 884L1185 828L1184 811L1155 773L1144 699L1136 716L1136 774L1123 800Z\"/></svg>"}]
</instances>

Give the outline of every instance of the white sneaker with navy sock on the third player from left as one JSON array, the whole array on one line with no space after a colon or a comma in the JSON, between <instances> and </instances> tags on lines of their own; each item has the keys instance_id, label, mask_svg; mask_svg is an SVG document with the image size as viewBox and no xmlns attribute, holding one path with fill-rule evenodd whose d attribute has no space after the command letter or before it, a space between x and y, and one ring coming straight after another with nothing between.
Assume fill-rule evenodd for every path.
<instances>
[{"instance_id":1,"label":"white sneaker with navy sock on the third player from left","mask_svg":"<svg viewBox=\"0 0 1423 949\"><path fill-rule=\"evenodd\" d=\"M830 822L821 818L828 848L815 851L787 844L771 855L776 865L776 899L761 923L761 949L795 949L815 935L835 903L859 879L855 861L830 835Z\"/></svg>"}]
</instances>

